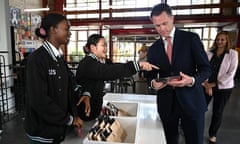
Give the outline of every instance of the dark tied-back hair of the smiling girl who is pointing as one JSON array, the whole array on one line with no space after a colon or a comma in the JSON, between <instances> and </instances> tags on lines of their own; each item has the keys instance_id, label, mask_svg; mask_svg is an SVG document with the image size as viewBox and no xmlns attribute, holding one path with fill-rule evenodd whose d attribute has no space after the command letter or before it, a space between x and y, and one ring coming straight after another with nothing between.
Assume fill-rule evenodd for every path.
<instances>
[{"instance_id":1,"label":"dark tied-back hair of the smiling girl who is pointing","mask_svg":"<svg viewBox=\"0 0 240 144\"><path fill-rule=\"evenodd\" d=\"M100 34L92 34L92 35L90 35L88 37L86 45L83 47L83 51L86 54L89 54L90 53L90 46L91 45L95 45L96 46L101 38L104 38L104 37L102 35L100 35Z\"/></svg>"}]
</instances>

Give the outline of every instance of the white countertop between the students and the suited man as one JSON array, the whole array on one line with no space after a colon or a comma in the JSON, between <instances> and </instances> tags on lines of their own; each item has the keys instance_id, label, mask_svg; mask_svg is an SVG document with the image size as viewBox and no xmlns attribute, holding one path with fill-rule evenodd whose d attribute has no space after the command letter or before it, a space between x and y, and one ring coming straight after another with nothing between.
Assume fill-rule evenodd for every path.
<instances>
[{"instance_id":1,"label":"white countertop between the students and the suited man","mask_svg":"<svg viewBox=\"0 0 240 144\"><path fill-rule=\"evenodd\" d=\"M166 144L165 135L163 132L163 127L161 120L157 113L157 105L156 105L156 96L155 95L139 95L139 94L120 94L120 93L107 93L104 96L104 101L109 102L120 102L120 103L137 103L138 111L136 117L123 118L123 122L126 123L129 121L134 121L136 130L135 140L126 140L126 142L118 143L118 144L126 144L126 143L136 143L136 144ZM135 119L135 120L134 120ZM120 119L121 120L121 119ZM71 133L66 137L66 140L63 144L104 144L111 142L98 142L98 141L89 141L86 138L88 130L95 123L95 121L85 122L82 128L83 137L79 138L76 133ZM129 125L128 123L128 125ZM126 130L128 132L128 130ZM131 132L132 130L130 130ZM129 133L130 136L132 132ZM132 137L132 136L131 136ZM134 137L134 136L133 136ZM130 138L134 139L134 138ZM130 142L129 142L130 141ZM133 141L133 142L132 142ZM117 143L114 143L117 144Z\"/></svg>"}]
</instances>

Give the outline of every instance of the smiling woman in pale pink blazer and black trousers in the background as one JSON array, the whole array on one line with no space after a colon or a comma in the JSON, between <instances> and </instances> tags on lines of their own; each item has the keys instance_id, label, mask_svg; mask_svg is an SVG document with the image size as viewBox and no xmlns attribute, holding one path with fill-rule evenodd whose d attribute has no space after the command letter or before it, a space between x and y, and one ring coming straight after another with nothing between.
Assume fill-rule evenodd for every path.
<instances>
[{"instance_id":1,"label":"smiling woman in pale pink blazer and black trousers in the background","mask_svg":"<svg viewBox=\"0 0 240 144\"><path fill-rule=\"evenodd\" d=\"M204 82L207 104L213 99L212 120L209 127L209 143L217 141L226 103L234 88L234 76L238 67L238 54L232 49L228 32L219 32L213 46L207 52L212 74Z\"/></svg>"}]
</instances>

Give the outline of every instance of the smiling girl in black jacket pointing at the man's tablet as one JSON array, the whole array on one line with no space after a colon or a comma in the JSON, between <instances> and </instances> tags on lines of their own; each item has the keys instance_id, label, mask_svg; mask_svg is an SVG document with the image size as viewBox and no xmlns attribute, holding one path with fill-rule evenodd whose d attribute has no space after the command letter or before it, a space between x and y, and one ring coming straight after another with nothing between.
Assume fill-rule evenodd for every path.
<instances>
[{"instance_id":1,"label":"smiling girl in black jacket pointing at the man's tablet","mask_svg":"<svg viewBox=\"0 0 240 144\"><path fill-rule=\"evenodd\" d=\"M130 61L127 63L108 63L106 61L107 46L105 38L99 34L92 34L88 37L84 47L86 56L79 62L76 78L78 84L91 94L91 113L86 117L84 103L80 104L79 116L82 120L90 121L97 118L102 110L104 93L104 81L115 80L117 78L129 77L137 73L140 69L147 71L158 67L148 62Z\"/></svg>"}]
</instances>

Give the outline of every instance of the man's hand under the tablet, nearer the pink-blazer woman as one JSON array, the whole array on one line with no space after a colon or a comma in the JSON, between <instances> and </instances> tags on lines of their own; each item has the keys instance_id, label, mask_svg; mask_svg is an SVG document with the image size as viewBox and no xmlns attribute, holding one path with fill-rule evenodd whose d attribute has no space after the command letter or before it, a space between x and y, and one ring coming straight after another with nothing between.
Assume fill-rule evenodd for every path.
<instances>
[{"instance_id":1,"label":"man's hand under the tablet, nearer the pink-blazer woman","mask_svg":"<svg viewBox=\"0 0 240 144\"><path fill-rule=\"evenodd\" d=\"M167 84L173 87L185 87L190 86L193 83L193 79L191 76L188 76L182 72L179 73L181 79L172 79L167 81Z\"/></svg>"}]
</instances>

